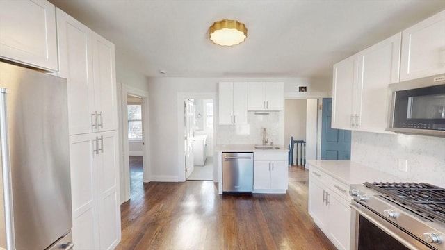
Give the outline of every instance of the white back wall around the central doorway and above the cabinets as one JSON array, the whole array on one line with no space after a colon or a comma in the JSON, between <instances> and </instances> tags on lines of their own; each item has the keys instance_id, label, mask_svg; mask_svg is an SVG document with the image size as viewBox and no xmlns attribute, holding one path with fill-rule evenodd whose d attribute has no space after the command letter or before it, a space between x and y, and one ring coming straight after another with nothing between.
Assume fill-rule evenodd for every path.
<instances>
[{"instance_id":1,"label":"white back wall around the central doorway and above the cabinets","mask_svg":"<svg viewBox=\"0 0 445 250\"><path fill-rule=\"evenodd\" d=\"M220 81L283 81L285 95L290 96L329 96L332 88L332 80L324 79L312 81L307 78L148 78L149 92L149 133L150 133L150 165L152 166L152 181L177 181L178 180L178 103L177 95L181 92L213 92L218 93ZM307 86L307 92L298 93L298 86ZM218 110L218 99L213 103ZM213 114L214 122L218 122L218 113ZM251 117L252 118L252 117ZM259 119L259 117L254 117ZM276 144L283 143L283 126L277 129ZM217 127L216 135L220 135ZM279 134L281 133L281 135ZM227 134L227 137L235 135ZM280 140L280 138L282 138ZM217 143L218 142L218 139ZM275 140L275 139L273 139ZM261 141L260 141L261 142ZM257 143L257 142L254 142Z\"/></svg>"}]
</instances>

